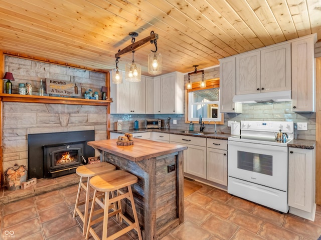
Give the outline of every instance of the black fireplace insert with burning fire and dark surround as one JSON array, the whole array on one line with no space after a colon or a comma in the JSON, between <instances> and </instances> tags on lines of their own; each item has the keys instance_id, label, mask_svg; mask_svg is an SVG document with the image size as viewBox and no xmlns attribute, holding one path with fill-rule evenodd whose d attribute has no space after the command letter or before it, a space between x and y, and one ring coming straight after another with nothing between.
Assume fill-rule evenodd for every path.
<instances>
[{"instance_id":1,"label":"black fireplace insert with burning fire and dark surround","mask_svg":"<svg viewBox=\"0 0 321 240\"><path fill-rule=\"evenodd\" d=\"M94 156L88 141L95 139L95 131L67 131L28 135L28 178L57 177L74 173Z\"/></svg>"}]
</instances>

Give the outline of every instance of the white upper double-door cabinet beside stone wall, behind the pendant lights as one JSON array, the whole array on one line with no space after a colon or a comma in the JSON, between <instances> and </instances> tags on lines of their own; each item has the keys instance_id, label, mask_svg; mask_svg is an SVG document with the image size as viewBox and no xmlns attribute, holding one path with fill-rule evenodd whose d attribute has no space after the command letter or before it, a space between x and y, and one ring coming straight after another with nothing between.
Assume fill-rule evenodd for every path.
<instances>
[{"instance_id":1,"label":"white upper double-door cabinet beside stone wall, behind the pendant lights","mask_svg":"<svg viewBox=\"0 0 321 240\"><path fill-rule=\"evenodd\" d=\"M111 113L145 113L145 77L139 82L123 79L121 84L110 84Z\"/></svg>"}]
</instances>

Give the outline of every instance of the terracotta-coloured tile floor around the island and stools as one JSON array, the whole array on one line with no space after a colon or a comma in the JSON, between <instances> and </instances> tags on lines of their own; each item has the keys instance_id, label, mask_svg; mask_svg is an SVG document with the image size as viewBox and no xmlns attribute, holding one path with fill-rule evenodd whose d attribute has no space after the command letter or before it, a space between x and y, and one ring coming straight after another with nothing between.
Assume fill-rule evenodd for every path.
<instances>
[{"instance_id":1,"label":"terracotta-coloured tile floor around the island and stools","mask_svg":"<svg viewBox=\"0 0 321 240\"><path fill-rule=\"evenodd\" d=\"M73 185L0 205L1 239L84 239L78 217L72 217L77 187ZM108 224L111 231L121 227L112 219ZM99 227L98 224L96 229ZM319 235L319 205L312 222L203 185L185 197L185 222L162 240L316 240ZM129 232L117 239L136 240L137 235Z\"/></svg>"}]
</instances>

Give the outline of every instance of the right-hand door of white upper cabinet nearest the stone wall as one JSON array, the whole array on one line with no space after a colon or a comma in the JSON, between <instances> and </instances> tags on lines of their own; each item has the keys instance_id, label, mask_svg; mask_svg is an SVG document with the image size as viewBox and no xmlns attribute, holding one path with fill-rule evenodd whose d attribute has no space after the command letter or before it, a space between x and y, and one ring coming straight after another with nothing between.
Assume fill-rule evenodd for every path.
<instances>
[{"instance_id":1,"label":"right-hand door of white upper cabinet nearest the stone wall","mask_svg":"<svg viewBox=\"0 0 321 240\"><path fill-rule=\"evenodd\" d=\"M131 113L145 113L145 77L141 81L131 82ZM117 99L119 100L119 98Z\"/></svg>"}]
</instances>

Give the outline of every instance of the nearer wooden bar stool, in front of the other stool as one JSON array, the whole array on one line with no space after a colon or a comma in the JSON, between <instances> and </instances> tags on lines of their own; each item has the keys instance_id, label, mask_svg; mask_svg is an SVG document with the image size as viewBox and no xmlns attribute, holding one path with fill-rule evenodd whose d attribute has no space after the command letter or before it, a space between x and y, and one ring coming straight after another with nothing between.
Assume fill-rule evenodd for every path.
<instances>
[{"instance_id":1,"label":"nearer wooden bar stool, in front of the other stool","mask_svg":"<svg viewBox=\"0 0 321 240\"><path fill-rule=\"evenodd\" d=\"M89 237L89 232L93 236L94 239L100 239L97 233L94 231L94 229L91 227L93 224L100 222L103 220L103 228L102 228L102 240L112 240L115 239L126 232L130 231L131 229L135 229L138 234L138 239L142 240L141 237L141 231L139 228L138 223L138 217L136 212L136 207L134 203L134 197L131 191L131 185L137 182L137 177L133 174L130 174L129 172L123 171L123 170L115 170L107 173L103 173L97 176L94 176L90 179L90 186L94 188L94 196L93 201L90 209L90 215L88 220L88 227L86 232L86 238ZM123 192L119 189L127 187L128 191ZM103 191L105 192L104 202L100 200L100 197L97 197L97 191ZM109 198L109 193L117 191L117 196L112 198ZM116 201L120 201L121 199L127 198L130 200L131 208L134 215L134 222L131 222L125 215L123 215L121 211L121 204L118 204L117 210L110 211L109 212L109 205L111 203L114 203ZM103 209L98 209L94 211L95 202L98 203L98 205ZM94 215L97 215L103 211L103 216L98 217L95 220L93 219ZM107 237L107 224L108 224L108 217L119 214L119 220L120 222L122 220L125 220L128 224L125 228L121 229L120 231L117 231L113 233L112 235Z\"/></svg>"}]
</instances>

